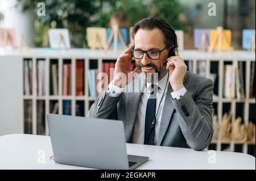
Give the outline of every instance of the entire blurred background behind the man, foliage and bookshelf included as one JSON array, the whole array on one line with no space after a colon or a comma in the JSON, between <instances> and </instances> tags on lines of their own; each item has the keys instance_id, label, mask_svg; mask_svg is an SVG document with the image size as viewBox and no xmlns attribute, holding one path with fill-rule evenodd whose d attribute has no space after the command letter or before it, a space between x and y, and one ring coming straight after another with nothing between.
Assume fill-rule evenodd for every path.
<instances>
[{"instance_id":1,"label":"entire blurred background behind the man, foliage and bookshelf included","mask_svg":"<svg viewBox=\"0 0 256 181\"><path fill-rule=\"evenodd\" d=\"M109 51L94 51L96 40L105 48L119 26L127 41L114 45L124 48L130 27L150 16L174 27L188 70L214 83L209 149L255 157L255 0L0 0L0 136L48 135L46 113L85 116L101 92L97 74L106 73L108 85L121 53L113 44ZM217 34L219 26L225 31ZM65 50L57 46L61 28ZM30 51L22 51L26 46L17 46L18 40L5 41L20 35ZM208 46L223 54L200 49Z\"/></svg>"}]
</instances>

